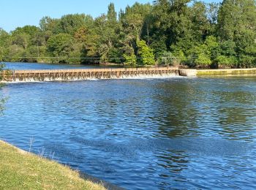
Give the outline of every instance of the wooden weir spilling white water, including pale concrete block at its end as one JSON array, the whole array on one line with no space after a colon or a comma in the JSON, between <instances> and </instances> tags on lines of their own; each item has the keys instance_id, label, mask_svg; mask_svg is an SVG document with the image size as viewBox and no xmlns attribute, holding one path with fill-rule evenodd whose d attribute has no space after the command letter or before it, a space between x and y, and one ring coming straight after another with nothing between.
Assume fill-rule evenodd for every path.
<instances>
[{"instance_id":1,"label":"wooden weir spilling white water, including pale concrete block at its end","mask_svg":"<svg viewBox=\"0 0 256 190\"><path fill-rule=\"evenodd\" d=\"M195 69L173 69L170 67L118 68L118 69L48 69L13 70L3 72L4 82L37 82L59 80L94 80L136 77L195 76Z\"/></svg>"}]
</instances>

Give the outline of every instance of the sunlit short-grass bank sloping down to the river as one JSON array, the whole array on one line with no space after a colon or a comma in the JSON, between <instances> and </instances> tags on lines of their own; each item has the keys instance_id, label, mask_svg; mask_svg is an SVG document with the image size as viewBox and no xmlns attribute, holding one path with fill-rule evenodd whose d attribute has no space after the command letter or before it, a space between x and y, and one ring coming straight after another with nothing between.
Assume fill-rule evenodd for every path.
<instances>
[{"instance_id":1,"label":"sunlit short-grass bank sloping down to the river","mask_svg":"<svg viewBox=\"0 0 256 190\"><path fill-rule=\"evenodd\" d=\"M0 140L0 189L105 189L55 161Z\"/></svg>"}]
</instances>

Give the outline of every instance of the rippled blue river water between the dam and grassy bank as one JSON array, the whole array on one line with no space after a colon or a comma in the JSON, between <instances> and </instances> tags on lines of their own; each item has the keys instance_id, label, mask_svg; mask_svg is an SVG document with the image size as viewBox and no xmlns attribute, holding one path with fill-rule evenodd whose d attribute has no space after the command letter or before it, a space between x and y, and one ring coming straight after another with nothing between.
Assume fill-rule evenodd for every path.
<instances>
[{"instance_id":1,"label":"rippled blue river water between the dam and grassy bank","mask_svg":"<svg viewBox=\"0 0 256 190\"><path fill-rule=\"evenodd\" d=\"M127 189L256 189L256 77L15 83L0 138Z\"/></svg>"}]
</instances>

